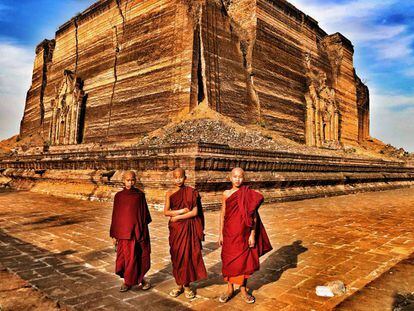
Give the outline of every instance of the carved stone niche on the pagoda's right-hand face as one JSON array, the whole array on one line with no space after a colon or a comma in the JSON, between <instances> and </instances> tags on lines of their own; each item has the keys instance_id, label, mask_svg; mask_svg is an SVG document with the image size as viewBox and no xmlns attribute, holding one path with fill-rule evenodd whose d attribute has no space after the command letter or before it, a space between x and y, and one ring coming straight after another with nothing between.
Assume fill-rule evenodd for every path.
<instances>
[{"instance_id":1,"label":"carved stone niche on the pagoda's right-hand face","mask_svg":"<svg viewBox=\"0 0 414 311\"><path fill-rule=\"evenodd\" d=\"M335 90L327 85L325 72L307 62L306 144L339 148L339 108Z\"/></svg>"}]
</instances>

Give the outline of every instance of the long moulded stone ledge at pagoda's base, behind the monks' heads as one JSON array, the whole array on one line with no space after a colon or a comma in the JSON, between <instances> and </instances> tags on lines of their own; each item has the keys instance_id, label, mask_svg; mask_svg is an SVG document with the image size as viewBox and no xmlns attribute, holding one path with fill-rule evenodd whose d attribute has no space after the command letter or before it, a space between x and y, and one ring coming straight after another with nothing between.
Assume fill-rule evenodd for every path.
<instances>
[{"instance_id":1,"label":"long moulded stone ledge at pagoda's base, behind the monks' heads","mask_svg":"<svg viewBox=\"0 0 414 311\"><path fill-rule=\"evenodd\" d=\"M230 187L228 172L240 166L247 182L266 202L303 200L414 185L414 168L404 162L236 149L193 143L158 148L49 152L0 159L2 187L56 196L110 201L122 187L122 173L138 173L138 186L150 206L163 207L171 171L187 170L187 182L200 190L207 209L217 209ZM51 189L53 191L51 192Z\"/></svg>"}]
</instances>

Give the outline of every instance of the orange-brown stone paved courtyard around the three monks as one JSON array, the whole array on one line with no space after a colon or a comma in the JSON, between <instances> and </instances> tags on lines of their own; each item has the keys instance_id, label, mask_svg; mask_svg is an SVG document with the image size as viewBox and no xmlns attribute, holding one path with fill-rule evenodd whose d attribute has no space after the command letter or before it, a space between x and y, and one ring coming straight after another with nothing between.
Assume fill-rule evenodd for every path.
<instances>
[{"instance_id":1,"label":"orange-brown stone paved courtyard around the three monks","mask_svg":"<svg viewBox=\"0 0 414 311\"><path fill-rule=\"evenodd\" d=\"M414 252L413 188L265 205L274 250L249 281L257 302L247 306L238 294L223 305L218 212L208 212L209 278L197 284L193 301L171 299L167 218L152 210L154 287L119 293L111 211L110 203L0 192L0 263L75 310L331 310ZM317 297L315 286L331 280L342 280L347 294Z\"/></svg>"}]
</instances>

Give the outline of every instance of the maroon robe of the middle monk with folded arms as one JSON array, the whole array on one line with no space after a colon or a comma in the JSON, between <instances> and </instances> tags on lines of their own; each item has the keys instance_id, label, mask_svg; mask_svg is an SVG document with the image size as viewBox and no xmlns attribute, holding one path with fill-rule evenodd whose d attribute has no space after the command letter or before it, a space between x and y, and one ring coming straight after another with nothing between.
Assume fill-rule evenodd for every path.
<instances>
[{"instance_id":1,"label":"maroon robe of the middle monk with folded arms","mask_svg":"<svg viewBox=\"0 0 414 311\"><path fill-rule=\"evenodd\" d=\"M188 285L207 277L201 254L201 241L204 239L204 217L198 192L183 186L170 196L170 209L179 210L198 207L198 215L193 218L169 222L170 254L173 275L178 285Z\"/></svg>"}]
</instances>

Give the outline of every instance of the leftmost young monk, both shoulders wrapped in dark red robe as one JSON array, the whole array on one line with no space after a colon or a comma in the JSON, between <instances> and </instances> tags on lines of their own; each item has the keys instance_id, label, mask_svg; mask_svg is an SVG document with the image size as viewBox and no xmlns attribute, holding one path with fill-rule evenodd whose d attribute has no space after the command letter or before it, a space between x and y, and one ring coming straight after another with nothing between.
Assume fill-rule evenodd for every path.
<instances>
[{"instance_id":1,"label":"leftmost young monk, both shoulders wrapped in dark red robe","mask_svg":"<svg viewBox=\"0 0 414 311\"><path fill-rule=\"evenodd\" d=\"M116 247L115 273L124 278L120 291L128 291L141 284L143 290L151 287L144 280L150 268L150 236L148 224L151 215L145 194L135 188L136 175L128 171L123 176L124 189L115 195L110 236Z\"/></svg>"}]
</instances>

